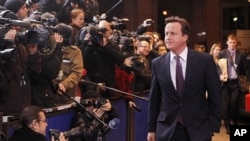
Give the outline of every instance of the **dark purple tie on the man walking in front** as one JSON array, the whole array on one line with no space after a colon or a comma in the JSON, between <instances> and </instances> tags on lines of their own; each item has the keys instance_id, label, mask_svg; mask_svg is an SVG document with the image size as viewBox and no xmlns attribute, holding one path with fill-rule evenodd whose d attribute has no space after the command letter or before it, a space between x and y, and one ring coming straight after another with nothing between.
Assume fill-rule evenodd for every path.
<instances>
[{"instance_id":1,"label":"dark purple tie on the man walking in front","mask_svg":"<svg viewBox=\"0 0 250 141\"><path fill-rule=\"evenodd\" d=\"M180 62L180 56L176 55L176 90L178 95L182 96L182 89L183 89L183 83L184 83L184 77L182 72L182 66Z\"/></svg>"}]
</instances>

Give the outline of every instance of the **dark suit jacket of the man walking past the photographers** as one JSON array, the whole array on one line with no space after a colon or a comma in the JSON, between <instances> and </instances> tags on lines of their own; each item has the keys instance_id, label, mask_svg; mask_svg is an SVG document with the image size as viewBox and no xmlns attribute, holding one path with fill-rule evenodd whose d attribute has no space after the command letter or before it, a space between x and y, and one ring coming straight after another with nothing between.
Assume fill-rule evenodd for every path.
<instances>
[{"instance_id":1,"label":"dark suit jacket of the man walking past the photographers","mask_svg":"<svg viewBox=\"0 0 250 141\"><path fill-rule=\"evenodd\" d=\"M219 132L221 87L209 54L188 49L182 98L171 80L170 53L153 60L152 74L148 131L156 132L157 141L171 139L180 113L191 141L203 141Z\"/></svg>"}]
</instances>

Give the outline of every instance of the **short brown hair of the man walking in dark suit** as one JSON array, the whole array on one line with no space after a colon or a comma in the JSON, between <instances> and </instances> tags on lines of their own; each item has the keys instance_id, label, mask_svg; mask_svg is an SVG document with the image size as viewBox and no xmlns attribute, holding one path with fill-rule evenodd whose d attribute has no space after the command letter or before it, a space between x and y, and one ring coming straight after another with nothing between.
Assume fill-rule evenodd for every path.
<instances>
[{"instance_id":1,"label":"short brown hair of the man walking in dark suit","mask_svg":"<svg viewBox=\"0 0 250 141\"><path fill-rule=\"evenodd\" d=\"M181 24L181 31L182 34L190 36L191 34L191 28L189 26L189 23L184 19L180 18L178 16L171 16L165 19L165 24L167 25L168 23L173 23L173 22L178 22Z\"/></svg>"}]
</instances>

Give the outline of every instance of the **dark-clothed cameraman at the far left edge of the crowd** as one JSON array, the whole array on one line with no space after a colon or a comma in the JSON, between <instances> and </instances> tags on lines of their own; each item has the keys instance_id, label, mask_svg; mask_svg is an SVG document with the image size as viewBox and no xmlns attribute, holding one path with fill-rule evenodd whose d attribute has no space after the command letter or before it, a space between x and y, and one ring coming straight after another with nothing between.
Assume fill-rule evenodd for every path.
<instances>
[{"instance_id":1,"label":"dark-clothed cameraman at the far left edge of the crowd","mask_svg":"<svg viewBox=\"0 0 250 141\"><path fill-rule=\"evenodd\" d=\"M30 76L41 71L41 56L37 53L37 47L25 47L15 40L18 28L7 28L7 33L1 39L4 41L1 50L8 50L0 55L1 70L6 80L6 90L0 96L0 111L5 115L18 115L25 106L31 104Z\"/></svg>"}]
</instances>

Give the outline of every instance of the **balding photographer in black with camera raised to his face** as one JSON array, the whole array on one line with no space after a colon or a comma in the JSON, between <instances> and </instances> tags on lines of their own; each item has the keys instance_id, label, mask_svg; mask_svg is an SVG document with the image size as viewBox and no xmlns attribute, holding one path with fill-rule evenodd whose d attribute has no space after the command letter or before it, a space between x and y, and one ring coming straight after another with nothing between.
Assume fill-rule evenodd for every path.
<instances>
[{"instance_id":1,"label":"balding photographer in black with camera raised to his face","mask_svg":"<svg viewBox=\"0 0 250 141\"><path fill-rule=\"evenodd\" d=\"M129 66L130 59L126 58L110 39L113 34L111 24L106 20L101 20L97 27L90 26L87 34L83 36L84 47L84 67L87 76L94 83L103 83L105 86L115 88L115 67ZM95 64L95 65L93 65ZM114 92L99 89L101 95L106 98L115 98ZM135 106L132 99L128 100L130 107Z\"/></svg>"}]
</instances>

